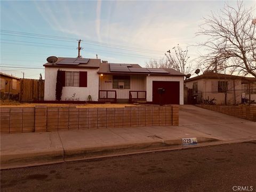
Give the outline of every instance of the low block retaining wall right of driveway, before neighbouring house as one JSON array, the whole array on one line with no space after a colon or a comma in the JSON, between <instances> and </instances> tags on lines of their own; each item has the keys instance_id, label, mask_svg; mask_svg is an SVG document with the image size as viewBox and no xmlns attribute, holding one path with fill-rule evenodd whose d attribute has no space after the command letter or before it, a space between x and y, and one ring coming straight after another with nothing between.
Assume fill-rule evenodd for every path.
<instances>
[{"instance_id":1,"label":"low block retaining wall right of driveway, before neighbouring house","mask_svg":"<svg viewBox=\"0 0 256 192\"><path fill-rule=\"evenodd\" d=\"M256 106L253 106L253 105L250 105L250 106L196 105L196 106L256 122Z\"/></svg>"}]
</instances>

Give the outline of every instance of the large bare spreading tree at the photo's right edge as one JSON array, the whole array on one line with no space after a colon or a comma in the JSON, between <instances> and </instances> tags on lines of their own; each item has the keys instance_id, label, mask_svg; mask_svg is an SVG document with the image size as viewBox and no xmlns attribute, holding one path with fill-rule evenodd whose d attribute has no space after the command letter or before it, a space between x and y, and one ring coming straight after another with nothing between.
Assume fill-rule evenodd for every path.
<instances>
[{"instance_id":1,"label":"large bare spreading tree at the photo's right edge","mask_svg":"<svg viewBox=\"0 0 256 192\"><path fill-rule=\"evenodd\" d=\"M204 18L197 35L208 38L199 44L208 51L200 62L205 64L206 70L228 69L256 77L256 29L252 8L245 9L243 2L237 2L237 7L226 4L220 12Z\"/></svg>"}]
</instances>

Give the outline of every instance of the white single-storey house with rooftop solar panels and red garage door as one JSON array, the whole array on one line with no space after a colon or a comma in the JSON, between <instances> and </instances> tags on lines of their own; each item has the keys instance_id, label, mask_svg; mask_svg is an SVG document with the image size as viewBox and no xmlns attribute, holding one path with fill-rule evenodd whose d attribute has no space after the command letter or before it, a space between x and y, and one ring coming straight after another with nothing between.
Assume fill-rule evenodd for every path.
<instances>
[{"instance_id":1,"label":"white single-storey house with rooftop solar panels and red garage door","mask_svg":"<svg viewBox=\"0 0 256 192\"><path fill-rule=\"evenodd\" d=\"M173 69L100 59L58 58L45 63L44 100L55 100L57 71L62 74L62 101L148 102L183 105L184 75ZM164 93L159 94L158 88Z\"/></svg>"}]
</instances>

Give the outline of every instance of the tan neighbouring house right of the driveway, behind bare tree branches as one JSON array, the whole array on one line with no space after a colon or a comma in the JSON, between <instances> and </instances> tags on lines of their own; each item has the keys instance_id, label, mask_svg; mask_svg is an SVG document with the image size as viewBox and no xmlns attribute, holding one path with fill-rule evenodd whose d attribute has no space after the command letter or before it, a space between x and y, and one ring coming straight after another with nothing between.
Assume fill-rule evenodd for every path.
<instances>
[{"instance_id":1,"label":"tan neighbouring house right of the driveway, behind bare tree branches","mask_svg":"<svg viewBox=\"0 0 256 192\"><path fill-rule=\"evenodd\" d=\"M190 95L197 96L197 102L206 99L216 99L218 105L241 103L244 98L256 99L256 78L226 75L219 73L205 73L185 80L185 86L191 90Z\"/></svg>"}]
</instances>

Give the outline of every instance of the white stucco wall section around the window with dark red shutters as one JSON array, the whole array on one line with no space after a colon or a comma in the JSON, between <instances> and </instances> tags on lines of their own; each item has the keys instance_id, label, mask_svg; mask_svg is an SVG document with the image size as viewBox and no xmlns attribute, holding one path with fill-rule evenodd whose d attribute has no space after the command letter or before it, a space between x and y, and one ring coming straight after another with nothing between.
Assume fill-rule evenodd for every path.
<instances>
[{"instance_id":1,"label":"white stucco wall section around the window with dark red shutters","mask_svg":"<svg viewBox=\"0 0 256 192\"><path fill-rule=\"evenodd\" d=\"M57 71L59 68L45 67L44 100L55 101L55 88L57 81ZM73 69L61 68L64 71L87 71L87 87L65 86L62 89L61 100L70 100L74 93L74 100L86 101L91 95L93 101L98 101L99 94L99 69Z\"/></svg>"}]
</instances>

